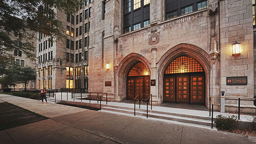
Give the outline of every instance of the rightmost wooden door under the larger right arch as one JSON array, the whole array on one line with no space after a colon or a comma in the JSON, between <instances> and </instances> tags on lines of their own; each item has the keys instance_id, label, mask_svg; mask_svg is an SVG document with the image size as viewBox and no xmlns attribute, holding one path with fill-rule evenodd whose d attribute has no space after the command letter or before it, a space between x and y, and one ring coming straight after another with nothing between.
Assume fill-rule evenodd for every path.
<instances>
[{"instance_id":1,"label":"rightmost wooden door under the larger right arch","mask_svg":"<svg viewBox=\"0 0 256 144\"><path fill-rule=\"evenodd\" d=\"M190 102L204 104L204 76L191 76Z\"/></svg>"}]
</instances>

